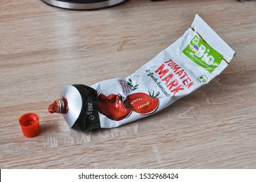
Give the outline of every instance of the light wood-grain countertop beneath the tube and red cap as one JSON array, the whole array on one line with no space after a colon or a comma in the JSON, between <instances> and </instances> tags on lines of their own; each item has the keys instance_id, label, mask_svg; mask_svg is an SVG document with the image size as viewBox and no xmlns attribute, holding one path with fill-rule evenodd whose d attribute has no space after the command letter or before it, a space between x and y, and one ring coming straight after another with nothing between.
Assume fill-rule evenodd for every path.
<instances>
[{"instance_id":1,"label":"light wood-grain countertop beneath the tube and red cap","mask_svg":"<svg viewBox=\"0 0 256 182\"><path fill-rule=\"evenodd\" d=\"M69 129L48 105L70 84L127 77L199 14L236 57L208 85L115 129ZM91 11L0 3L0 168L256 168L256 1L127 1ZM18 119L40 117L26 138Z\"/></svg>"}]
</instances>

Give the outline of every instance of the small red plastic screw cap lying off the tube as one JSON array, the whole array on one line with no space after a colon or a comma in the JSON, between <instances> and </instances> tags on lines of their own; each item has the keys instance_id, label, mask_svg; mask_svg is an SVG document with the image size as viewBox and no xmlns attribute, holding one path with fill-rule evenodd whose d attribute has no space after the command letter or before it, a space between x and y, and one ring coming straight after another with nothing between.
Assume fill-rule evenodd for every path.
<instances>
[{"instance_id":1,"label":"small red plastic screw cap lying off the tube","mask_svg":"<svg viewBox=\"0 0 256 182\"><path fill-rule=\"evenodd\" d=\"M32 138L39 135L39 116L35 113L27 113L20 116L20 126L22 127L22 133L24 136Z\"/></svg>"}]
</instances>

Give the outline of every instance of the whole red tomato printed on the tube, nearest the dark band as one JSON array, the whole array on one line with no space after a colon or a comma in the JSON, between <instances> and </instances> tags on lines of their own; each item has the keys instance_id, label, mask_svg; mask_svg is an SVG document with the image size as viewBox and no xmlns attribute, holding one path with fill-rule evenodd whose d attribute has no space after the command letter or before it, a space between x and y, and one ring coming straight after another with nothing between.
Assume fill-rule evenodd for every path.
<instances>
[{"instance_id":1,"label":"whole red tomato printed on the tube, nearest the dark band","mask_svg":"<svg viewBox=\"0 0 256 182\"><path fill-rule=\"evenodd\" d=\"M110 94L105 96L104 94L99 94L97 96L97 105L99 112L110 120L123 120L132 112L131 109L126 108L123 104L121 95Z\"/></svg>"}]
</instances>

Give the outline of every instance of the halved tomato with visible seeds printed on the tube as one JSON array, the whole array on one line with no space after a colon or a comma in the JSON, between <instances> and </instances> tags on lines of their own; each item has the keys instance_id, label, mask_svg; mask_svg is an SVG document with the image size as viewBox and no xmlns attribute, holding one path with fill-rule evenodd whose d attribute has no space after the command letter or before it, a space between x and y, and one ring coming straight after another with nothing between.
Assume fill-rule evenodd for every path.
<instances>
[{"instance_id":1,"label":"halved tomato with visible seeds printed on the tube","mask_svg":"<svg viewBox=\"0 0 256 182\"><path fill-rule=\"evenodd\" d=\"M153 96L153 94L148 95L143 92L131 94L127 96L124 103L128 108L140 114L152 114L159 107L159 99L157 96L159 96L160 93L157 92L155 96Z\"/></svg>"}]
</instances>

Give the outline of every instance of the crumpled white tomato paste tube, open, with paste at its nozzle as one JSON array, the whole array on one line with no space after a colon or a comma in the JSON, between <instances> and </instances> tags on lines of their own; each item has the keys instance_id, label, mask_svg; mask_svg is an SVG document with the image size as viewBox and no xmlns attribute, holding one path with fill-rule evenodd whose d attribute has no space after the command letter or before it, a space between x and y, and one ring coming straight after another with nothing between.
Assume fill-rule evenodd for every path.
<instances>
[{"instance_id":1,"label":"crumpled white tomato paste tube, open, with paste at its nozzle","mask_svg":"<svg viewBox=\"0 0 256 182\"><path fill-rule=\"evenodd\" d=\"M176 42L126 78L68 85L49 112L87 131L118 127L168 107L219 75L234 51L198 15Z\"/></svg>"}]
</instances>

